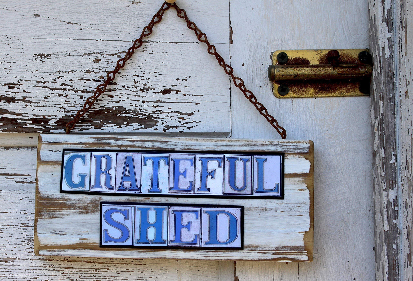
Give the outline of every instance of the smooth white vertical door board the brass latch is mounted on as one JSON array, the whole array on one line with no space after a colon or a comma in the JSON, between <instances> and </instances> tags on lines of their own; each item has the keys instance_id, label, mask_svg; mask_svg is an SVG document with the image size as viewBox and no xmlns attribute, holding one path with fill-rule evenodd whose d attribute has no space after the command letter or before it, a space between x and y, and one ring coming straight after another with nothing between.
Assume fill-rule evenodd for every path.
<instances>
[{"instance_id":1,"label":"smooth white vertical door board the brass latch is mounted on","mask_svg":"<svg viewBox=\"0 0 413 281\"><path fill-rule=\"evenodd\" d=\"M294 272L289 275L294 278L285 280L374 280L370 98L281 100L274 98L267 77L270 53L278 49L369 47L368 3L230 2L234 72L265 101L268 111L287 129L287 138L314 141L313 262L298 267L277 264L274 276ZM232 137L279 138L241 95L236 89L231 94ZM260 271L261 263L242 263L249 270L237 275L240 280L273 280Z\"/></svg>"}]
</instances>

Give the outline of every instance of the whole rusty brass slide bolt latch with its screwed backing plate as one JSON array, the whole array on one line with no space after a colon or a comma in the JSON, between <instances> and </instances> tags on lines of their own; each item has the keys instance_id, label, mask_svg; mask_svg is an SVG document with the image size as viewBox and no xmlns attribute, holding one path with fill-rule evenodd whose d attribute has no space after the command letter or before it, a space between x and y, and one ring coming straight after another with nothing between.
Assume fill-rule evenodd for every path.
<instances>
[{"instance_id":1,"label":"whole rusty brass slide bolt latch with its screwed backing plate","mask_svg":"<svg viewBox=\"0 0 413 281\"><path fill-rule=\"evenodd\" d=\"M370 96L368 49L279 50L271 59L268 78L277 98Z\"/></svg>"}]
</instances>

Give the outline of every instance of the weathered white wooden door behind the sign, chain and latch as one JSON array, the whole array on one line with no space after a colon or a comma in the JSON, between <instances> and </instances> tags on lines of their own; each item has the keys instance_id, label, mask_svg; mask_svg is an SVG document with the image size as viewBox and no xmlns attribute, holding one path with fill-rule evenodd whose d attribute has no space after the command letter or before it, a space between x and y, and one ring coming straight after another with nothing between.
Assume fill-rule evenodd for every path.
<instances>
[{"instance_id":1,"label":"weathered white wooden door behind the sign, chain and latch","mask_svg":"<svg viewBox=\"0 0 413 281\"><path fill-rule=\"evenodd\" d=\"M313 262L235 265L233 261L34 256L36 148L13 146L35 146L37 131L59 131L67 119L62 116L79 108L80 102L76 101L84 100L97 84L93 79L97 76L99 80L105 70L111 69L116 56L140 33L143 26L135 19L149 21L161 1L32 0L2 4L0 129L8 133L0 134L0 140L8 148L0 149L0 276L9 280L374 280L370 98L278 100L266 75L270 53L278 49L368 48L367 0L177 1L233 66L235 75L244 79L247 88L287 129L287 138L314 141ZM133 75L138 73L152 84L148 87L138 83L139 87L149 88L149 97L145 98L155 108L161 106L161 118L151 123L157 110L148 110L144 112L146 117L142 115L146 118L146 127L142 127L142 120L129 110L123 116L126 126L110 124L104 114L96 112L94 116L104 124L100 127L116 132L138 129L140 133L153 133L157 129L161 133L195 136L280 138L242 93L230 86L214 58L207 55L206 47L195 43L195 35L172 13L167 12L165 21L155 28L148 39L150 47L138 54L135 62L141 59L140 67L131 65L121 76L130 82L125 86L128 89L118 90L123 93L120 98L111 98L109 93L97 105L112 112L112 116L116 109L111 108L135 109L135 104L142 101L134 94L139 93L133 87ZM52 55L44 56L47 54ZM168 65L170 61L173 63ZM158 68L166 74L154 74ZM191 76L186 73L192 73L195 80L186 77ZM173 86L172 80L182 84ZM114 89L121 85L117 82ZM188 88L188 94L194 96L162 92L169 88ZM196 96L199 93L204 98ZM197 98L202 102L193 106L200 113L188 117L185 114L193 109L189 100ZM63 105L66 101L67 108ZM175 113L167 114L166 102L171 102ZM136 106L147 110L141 105ZM42 124L43 116L49 127ZM86 131L95 129L87 124L82 125ZM192 127L193 124L202 125Z\"/></svg>"}]
</instances>

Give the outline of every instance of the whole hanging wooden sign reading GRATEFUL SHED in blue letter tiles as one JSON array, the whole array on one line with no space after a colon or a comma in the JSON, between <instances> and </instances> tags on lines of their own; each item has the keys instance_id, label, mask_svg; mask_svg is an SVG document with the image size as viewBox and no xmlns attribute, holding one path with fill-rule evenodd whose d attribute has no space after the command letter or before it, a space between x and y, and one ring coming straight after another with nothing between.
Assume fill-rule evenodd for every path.
<instances>
[{"instance_id":1,"label":"whole hanging wooden sign reading GRATEFUL SHED in blue letter tiles","mask_svg":"<svg viewBox=\"0 0 413 281\"><path fill-rule=\"evenodd\" d=\"M36 179L38 255L312 260L311 141L41 134Z\"/></svg>"}]
</instances>

